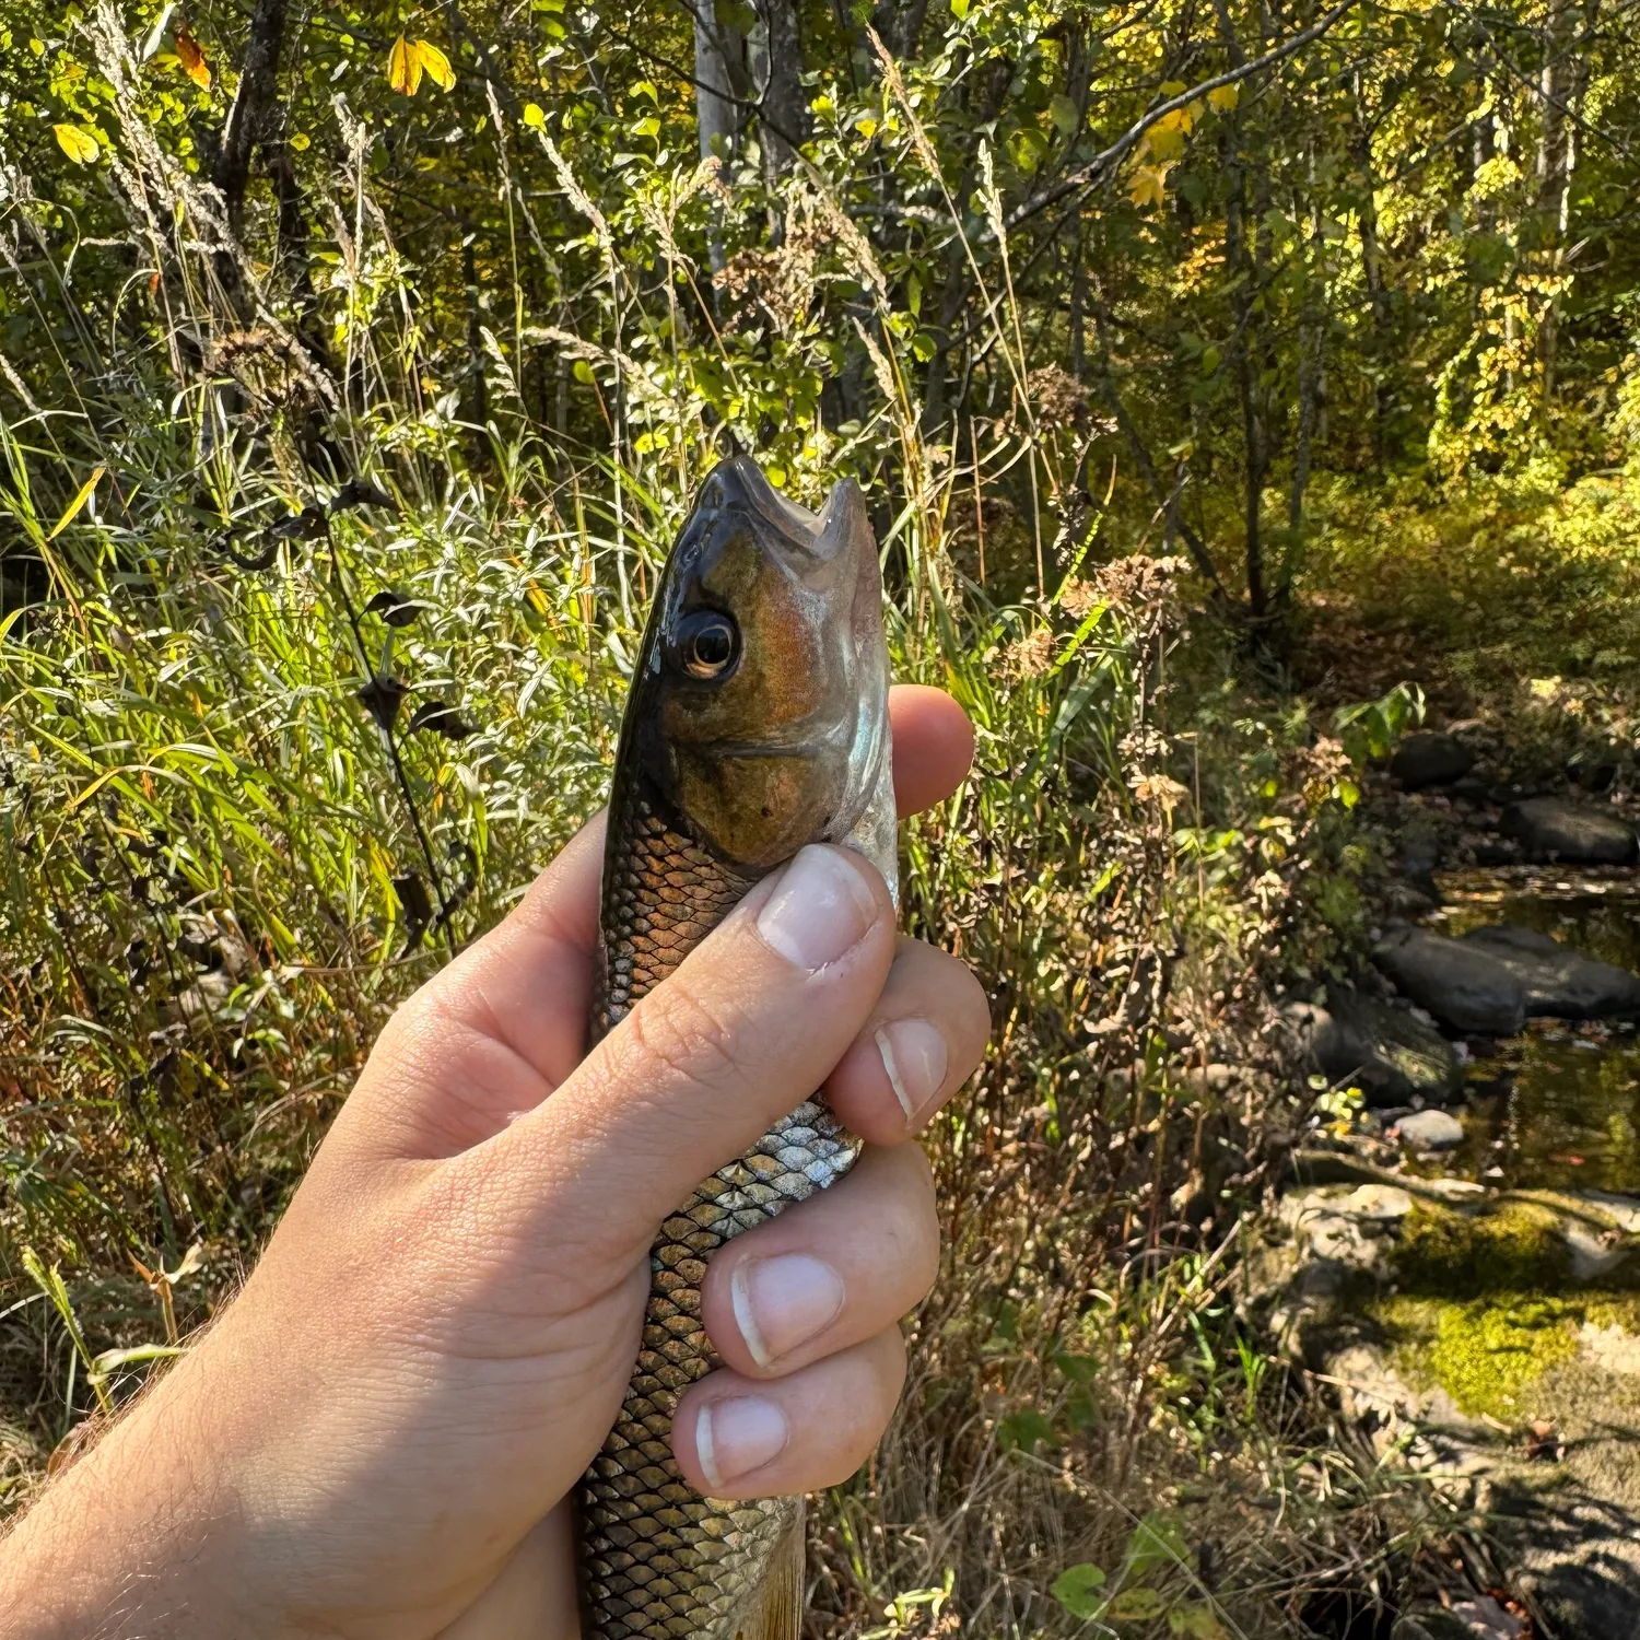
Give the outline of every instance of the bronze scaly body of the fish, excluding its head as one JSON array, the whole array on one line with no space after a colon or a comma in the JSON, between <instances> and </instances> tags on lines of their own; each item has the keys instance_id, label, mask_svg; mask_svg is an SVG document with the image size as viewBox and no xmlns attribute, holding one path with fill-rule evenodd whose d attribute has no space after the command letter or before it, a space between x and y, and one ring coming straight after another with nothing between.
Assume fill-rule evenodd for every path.
<instances>
[{"instance_id":1,"label":"bronze scaly body of the fish, excluding its head","mask_svg":"<svg viewBox=\"0 0 1640 1640\"><path fill-rule=\"evenodd\" d=\"M658 812L615 794L604 887L604 976L594 1033L604 1035L715 928L753 886ZM841 1178L859 1140L815 1099L699 1184L661 1225L638 1366L620 1417L581 1483L582 1576L600 1635L731 1637L799 1499L702 1497L672 1458L682 1392L722 1364L700 1320L707 1260L731 1237Z\"/></svg>"}]
</instances>

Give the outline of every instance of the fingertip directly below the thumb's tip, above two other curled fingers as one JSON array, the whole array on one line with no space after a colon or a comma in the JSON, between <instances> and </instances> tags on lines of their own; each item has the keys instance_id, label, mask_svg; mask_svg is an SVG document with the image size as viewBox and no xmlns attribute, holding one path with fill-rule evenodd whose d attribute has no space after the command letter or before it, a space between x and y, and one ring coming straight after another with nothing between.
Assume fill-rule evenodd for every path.
<instances>
[{"instance_id":1,"label":"fingertip directly below the thumb's tip, above two other curled fingers","mask_svg":"<svg viewBox=\"0 0 1640 1640\"><path fill-rule=\"evenodd\" d=\"M902 938L864 1028L827 1077L827 1104L872 1145L923 1128L974 1074L991 1035L991 1004L974 971Z\"/></svg>"}]
</instances>

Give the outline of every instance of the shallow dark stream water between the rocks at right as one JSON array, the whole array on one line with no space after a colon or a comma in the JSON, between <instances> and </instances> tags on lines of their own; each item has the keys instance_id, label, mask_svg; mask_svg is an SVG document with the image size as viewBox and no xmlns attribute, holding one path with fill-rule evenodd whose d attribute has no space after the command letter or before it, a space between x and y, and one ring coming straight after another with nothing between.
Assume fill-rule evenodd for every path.
<instances>
[{"instance_id":1,"label":"shallow dark stream water between the rocks at right","mask_svg":"<svg viewBox=\"0 0 1640 1640\"><path fill-rule=\"evenodd\" d=\"M1640 973L1632 871L1502 866L1442 872L1428 923L1461 935L1517 923ZM1466 1069L1465 1145L1445 1173L1507 1187L1640 1191L1640 1035L1633 1025L1532 1020Z\"/></svg>"}]
</instances>

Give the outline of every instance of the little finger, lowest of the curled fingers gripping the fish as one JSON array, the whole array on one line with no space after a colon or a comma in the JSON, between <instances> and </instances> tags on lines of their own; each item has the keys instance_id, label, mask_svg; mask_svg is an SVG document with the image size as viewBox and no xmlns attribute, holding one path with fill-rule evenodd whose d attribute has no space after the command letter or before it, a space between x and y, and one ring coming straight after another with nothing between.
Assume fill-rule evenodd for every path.
<instances>
[{"instance_id":1,"label":"little finger, lowest of the curled fingers gripping the fish","mask_svg":"<svg viewBox=\"0 0 1640 1640\"><path fill-rule=\"evenodd\" d=\"M904 1383L899 1327L790 1378L759 1383L725 1368L677 1404L672 1453L707 1497L818 1492L871 1456Z\"/></svg>"}]
</instances>

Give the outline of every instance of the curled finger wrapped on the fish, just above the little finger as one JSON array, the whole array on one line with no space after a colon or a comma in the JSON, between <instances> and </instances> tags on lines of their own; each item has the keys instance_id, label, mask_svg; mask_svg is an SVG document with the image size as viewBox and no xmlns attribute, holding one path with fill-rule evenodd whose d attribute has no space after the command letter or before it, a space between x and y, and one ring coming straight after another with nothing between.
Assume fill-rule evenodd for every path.
<instances>
[{"instance_id":1,"label":"curled finger wrapped on the fish, just above the little finger","mask_svg":"<svg viewBox=\"0 0 1640 1640\"><path fill-rule=\"evenodd\" d=\"M866 1150L830 1189L720 1248L700 1314L727 1366L784 1378L892 1327L938 1266L927 1158L915 1145Z\"/></svg>"}]
</instances>

